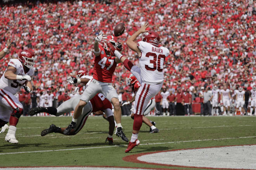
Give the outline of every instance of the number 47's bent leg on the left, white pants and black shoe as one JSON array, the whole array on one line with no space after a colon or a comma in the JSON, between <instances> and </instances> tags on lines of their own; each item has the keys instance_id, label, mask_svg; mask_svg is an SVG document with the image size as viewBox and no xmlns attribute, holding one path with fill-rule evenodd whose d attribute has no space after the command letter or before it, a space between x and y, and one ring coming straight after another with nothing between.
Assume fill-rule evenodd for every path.
<instances>
[{"instance_id":1,"label":"number 47's bent leg on the left, white pants and black shoe","mask_svg":"<svg viewBox=\"0 0 256 170\"><path fill-rule=\"evenodd\" d=\"M86 87L85 91L81 95L81 99L76 105L74 109L74 115L72 117L71 123L67 126L65 131L63 132L64 134L69 134L71 129L76 128L76 123L78 121L78 117L82 114L83 107L85 107L86 104L99 92L101 92L102 88L100 83L92 79L92 82Z\"/></svg>"}]
</instances>

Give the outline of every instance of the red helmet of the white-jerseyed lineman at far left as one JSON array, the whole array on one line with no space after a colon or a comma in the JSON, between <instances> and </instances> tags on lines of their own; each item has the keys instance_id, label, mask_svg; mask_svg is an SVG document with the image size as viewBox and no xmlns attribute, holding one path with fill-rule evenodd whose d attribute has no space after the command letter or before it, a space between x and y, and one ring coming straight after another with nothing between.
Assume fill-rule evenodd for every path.
<instances>
[{"instance_id":1,"label":"red helmet of the white-jerseyed lineman at far left","mask_svg":"<svg viewBox=\"0 0 256 170\"><path fill-rule=\"evenodd\" d=\"M22 50L19 53L19 61L21 61L21 63L28 68L34 68L36 64L36 57L34 52L28 49Z\"/></svg>"}]
</instances>

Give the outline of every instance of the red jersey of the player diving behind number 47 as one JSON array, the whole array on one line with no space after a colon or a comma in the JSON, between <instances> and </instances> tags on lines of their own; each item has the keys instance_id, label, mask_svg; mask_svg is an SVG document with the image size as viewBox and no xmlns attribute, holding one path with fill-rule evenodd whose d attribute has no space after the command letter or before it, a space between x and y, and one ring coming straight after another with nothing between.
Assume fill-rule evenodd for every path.
<instances>
[{"instance_id":1,"label":"red jersey of the player diving behind number 47","mask_svg":"<svg viewBox=\"0 0 256 170\"><path fill-rule=\"evenodd\" d=\"M97 112L100 110L111 109L112 104L107 100L107 98L102 93L97 93L91 100L92 112Z\"/></svg>"}]
</instances>

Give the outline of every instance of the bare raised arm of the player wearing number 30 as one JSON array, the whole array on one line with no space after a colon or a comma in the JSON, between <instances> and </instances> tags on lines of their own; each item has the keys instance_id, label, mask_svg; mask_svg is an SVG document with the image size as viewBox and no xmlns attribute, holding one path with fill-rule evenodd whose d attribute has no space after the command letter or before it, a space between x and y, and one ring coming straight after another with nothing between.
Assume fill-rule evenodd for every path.
<instances>
[{"instance_id":1,"label":"bare raised arm of the player wearing number 30","mask_svg":"<svg viewBox=\"0 0 256 170\"><path fill-rule=\"evenodd\" d=\"M144 32L147 32L146 29L147 29L148 26L149 26L149 23L146 22L145 24L142 25L142 27L141 27L137 32L135 32L132 36L130 36L130 37L127 39L127 41L126 41L127 46L128 46L131 50L137 52L137 53L138 53L138 56L140 56L141 51L140 51L140 49L137 47L137 42L135 42L135 39L136 39L140 34L142 34L142 33L144 33Z\"/></svg>"}]
</instances>

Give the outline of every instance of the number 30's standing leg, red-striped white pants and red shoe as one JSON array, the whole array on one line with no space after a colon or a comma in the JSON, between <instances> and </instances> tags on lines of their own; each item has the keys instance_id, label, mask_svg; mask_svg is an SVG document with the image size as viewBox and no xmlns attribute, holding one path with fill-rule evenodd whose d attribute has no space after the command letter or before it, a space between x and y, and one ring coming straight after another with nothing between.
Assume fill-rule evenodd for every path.
<instances>
[{"instance_id":1,"label":"number 30's standing leg, red-striped white pants and red shoe","mask_svg":"<svg viewBox=\"0 0 256 170\"><path fill-rule=\"evenodd\" d=\"M129 145L125 150L126 153L140 144L140 141L138 140L138 133L140 127L142 126L142 115L147 107L147 104L149 103L149 100L161 90L162 86L163 83L158 85L149 85L142 83L142 85L138 89L135 97L133 131L131 141L129 142Z\"/></svg>"}]
</instances>

